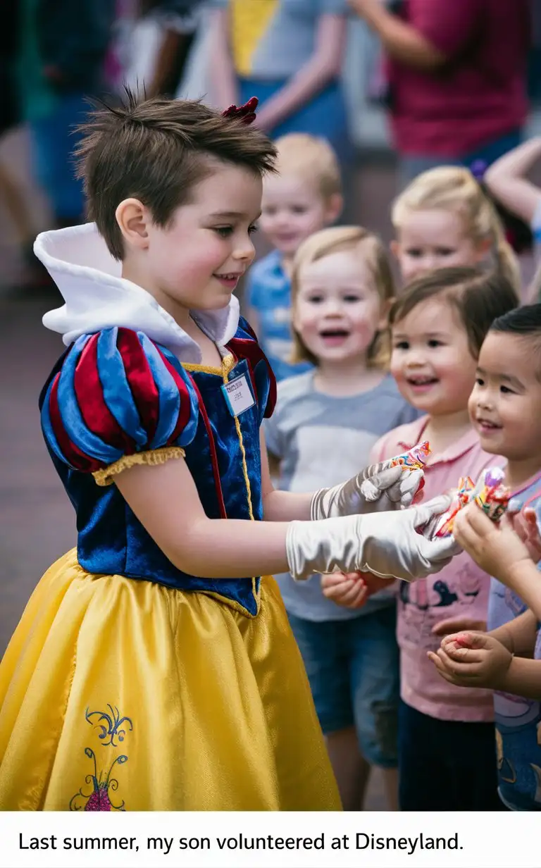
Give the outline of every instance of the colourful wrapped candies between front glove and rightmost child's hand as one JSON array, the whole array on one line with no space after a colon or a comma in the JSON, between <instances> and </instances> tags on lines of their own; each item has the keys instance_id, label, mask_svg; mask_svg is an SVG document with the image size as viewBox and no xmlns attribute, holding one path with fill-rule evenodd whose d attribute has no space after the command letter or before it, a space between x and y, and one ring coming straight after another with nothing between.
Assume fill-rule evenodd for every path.
<instances>
[{"instance_id":1,"label":"colourful wrapped candies between front glove and rightmost child's hand","mask_svg":"<svg viewBox=\"0 0 541 868\"><path fill-rule=\"evenodd\" d=\"M472 501L475 501L493 522L498 522L507 509L510 496L510 490L504 485L504 471L499 467L483 470L477 484L473 483L470 477L463 477L459 480L459 487L454 493L449 510L443 516L432 519L423 529L423 533L425 536L450 536L455 516Z\"/></svg>"}]
</instances>

